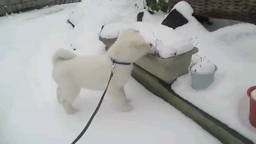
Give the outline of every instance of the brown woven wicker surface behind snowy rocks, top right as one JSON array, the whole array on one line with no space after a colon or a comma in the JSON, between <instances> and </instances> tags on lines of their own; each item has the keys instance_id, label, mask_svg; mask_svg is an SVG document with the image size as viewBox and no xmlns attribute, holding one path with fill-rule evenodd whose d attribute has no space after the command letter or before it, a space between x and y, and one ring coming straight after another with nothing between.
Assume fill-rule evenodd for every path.
<instances>
[{"instance_id":1,"label":"brown woven wicker surface behind snowy rocks, top right","mask_svg":"<svg viewBox=\"0 0 256 144\"><path fill-rule=\"evenodd\" d=\"M172 8L182 0L169 0ZM238 20L256 24L256 0L184 0L194 14L208 18Z\"/></svg>"}]
</instances>

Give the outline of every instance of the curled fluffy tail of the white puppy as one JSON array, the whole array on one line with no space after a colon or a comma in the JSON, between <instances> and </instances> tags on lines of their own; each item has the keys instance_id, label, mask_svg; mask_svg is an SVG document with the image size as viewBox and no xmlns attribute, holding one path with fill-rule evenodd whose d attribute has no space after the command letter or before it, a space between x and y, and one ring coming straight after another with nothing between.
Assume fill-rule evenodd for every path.
<instances>
[{"instance_id":1,"label":"curled fluffy tail of the white puppy","mask_svg":"<svg viewBox=\"0 0 256 144\"><path fill-rule=\"evenodd\" d=\"M61 48L57 50L52 56L52 64L55 65L60 60L69 60L74 57L76 57L75 53L70 52L69 50L66 50L64 48Z\"/></svg>"}]
</instances>

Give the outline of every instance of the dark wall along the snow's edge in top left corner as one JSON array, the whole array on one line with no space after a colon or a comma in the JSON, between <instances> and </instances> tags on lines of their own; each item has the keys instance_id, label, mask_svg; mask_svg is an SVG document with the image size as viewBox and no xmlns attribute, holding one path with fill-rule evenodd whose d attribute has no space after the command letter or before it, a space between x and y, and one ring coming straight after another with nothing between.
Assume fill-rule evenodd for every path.
<instances>
[{"instance_id":1,"label":"dark wall along the snow's edge in top left corner","mask_svg":"<svg viewBox=\"0 0 256 144\"><path fill-rule=\"evenodd\" d=\"M45 6L81 1L82 0L0 0L0 16L4 16L6 13L24 12Z\"/></svg>"}]
</instances>

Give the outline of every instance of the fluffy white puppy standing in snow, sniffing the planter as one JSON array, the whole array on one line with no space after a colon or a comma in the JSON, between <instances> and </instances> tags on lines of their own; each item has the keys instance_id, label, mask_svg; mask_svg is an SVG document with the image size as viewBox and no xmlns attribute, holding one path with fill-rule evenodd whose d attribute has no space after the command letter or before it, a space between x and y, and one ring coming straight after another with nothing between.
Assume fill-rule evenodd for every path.
<instances>
[{"instance_id":1,"label":"fluffy white puppy standing in snow, sniffing the planter","mask_svg":"<svg viewBox=\"0 0 256 144\"><path fill-rule=\"evenodd\" d=\"M106 54L98 56L76 56L69 50L60 49L52 57L54 68L52 76L58 84L57 98L68 114L78 110L72 107L72 102L78 96L81 88L103 91L110 77L112 59L116 62L133 63L151 50L137 30L128 29L121 34ZM132 110L126 99L124 84L132 72L132 64L116 64L114 76L110 82L107 94L122 112Z\"/></svg>"}]
</instances>

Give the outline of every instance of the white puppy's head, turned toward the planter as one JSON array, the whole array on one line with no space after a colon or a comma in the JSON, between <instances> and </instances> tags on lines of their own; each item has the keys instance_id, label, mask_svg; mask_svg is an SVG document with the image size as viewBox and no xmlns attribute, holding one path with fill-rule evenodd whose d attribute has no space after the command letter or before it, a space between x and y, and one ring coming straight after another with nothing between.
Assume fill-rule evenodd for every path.
<instances>
[{"instance_id":1,"label":"white puppy's head, turned toward the planter","mask_svg":"<svg viewBox=\"0 0 256 144\"><path fill-rule=\"evenodd\" d=\"M138 30L129 28L118 36L116 42L108 50L108 54L123 62L136 62L150 52L152 44L146 42Z\"/></svg>"}]
</instances>

